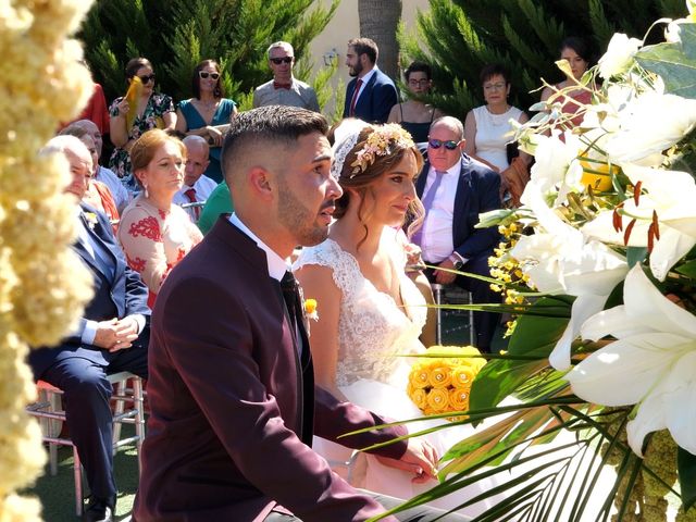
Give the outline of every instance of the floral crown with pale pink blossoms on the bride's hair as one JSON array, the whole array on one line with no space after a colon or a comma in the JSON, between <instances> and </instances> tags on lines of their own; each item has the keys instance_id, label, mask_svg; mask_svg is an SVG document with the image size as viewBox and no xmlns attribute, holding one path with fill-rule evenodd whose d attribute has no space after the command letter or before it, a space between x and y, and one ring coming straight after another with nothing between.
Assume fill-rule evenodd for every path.
<instances>
[{"instance_id":1,"label":"floral crown with pale pink blossoms on the bride's hair","mask_svg":"<svg viewBox=\"0 0 696 522\"><path fill-rule=\"evenodd\" d=\"M356 128L351 129L338 147L336 147L335 160L332 165L332 174L336 178L340 176L346 157L358 142L360 132L366 126L366 124L356 125ZM408 149L414 146L415 144L411 135L398 123L387 123L386 125L375 126L374 132L368 136L365 144L356 153L356 161L350 164L353 169L349 177L352 178L355 175L364 172L374 163L377 156L389 156L398 148Z\"/></svg>"}]
</instances>

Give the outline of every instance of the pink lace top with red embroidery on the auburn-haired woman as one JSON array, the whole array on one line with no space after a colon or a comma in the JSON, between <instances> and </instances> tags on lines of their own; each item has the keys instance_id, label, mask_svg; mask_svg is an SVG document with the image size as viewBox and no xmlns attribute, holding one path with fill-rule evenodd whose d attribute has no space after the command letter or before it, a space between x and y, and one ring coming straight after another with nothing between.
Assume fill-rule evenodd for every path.
<instances>
[{"instance_id":1,"label":"pink lace top with red embroidery on the auburn-haired woman","mask_svg":"<svg viewBox=\"0 0 696 522\"><path fill-rule=\"evenodd\" d=\"M150 307L170 271L203 238L185 210L160 210L142 196L123 211L119 240L128 260L150 289Z\"/></svg>"}]
</instances>

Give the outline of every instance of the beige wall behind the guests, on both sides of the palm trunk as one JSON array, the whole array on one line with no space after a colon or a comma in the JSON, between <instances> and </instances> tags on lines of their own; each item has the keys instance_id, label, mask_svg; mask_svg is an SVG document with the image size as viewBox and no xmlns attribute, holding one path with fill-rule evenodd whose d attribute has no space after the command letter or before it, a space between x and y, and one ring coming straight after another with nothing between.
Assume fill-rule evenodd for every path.
<instances>
[{"instance_id":1,"label":"beige wall behind the guests, on both sides of the palm trunk","mask_svg":"<svg viewBox=\"0 0 696 522\"><path fill-rule=\"evenodd\" d=\"M330 0L315 0L316 2L330 5ZM417 10L428 9L427 0L401 0L402 20L407 30L415 29ZM336 14L328 23L324 32L319 35L310 46L314 67L322 66L328 57L338 55L338 74L334 78L334 87L340 77L344 85L350 82L348 67L344 64L346 60L346 42L350 38L360 36L360 24L358 20L358 0L341 0ZM326 112L326 111L325 111Z\"/></svg>"}]
</instances>

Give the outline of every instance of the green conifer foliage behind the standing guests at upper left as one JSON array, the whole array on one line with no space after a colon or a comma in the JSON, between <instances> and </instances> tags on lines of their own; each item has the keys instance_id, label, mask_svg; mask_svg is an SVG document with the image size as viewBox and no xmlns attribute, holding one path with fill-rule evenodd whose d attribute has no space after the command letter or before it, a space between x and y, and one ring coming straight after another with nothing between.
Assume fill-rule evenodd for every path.
<instances>
[{"instance_id":1,"label":"green conifer foliage behind the standing guests at upper left","mask_svg":"<svg viewBox=\"0 0 696 522\"><path fill-rule=\"evenodd\" d=\"M215 59L223 67L226 95L241 107L249 94L271 77L269 45L293 44L295 74L308 79L310 41L319 35L338 5L313 5L313 0L109 0L98 1L79 38L95 82L107 98L126 90L124 67L134 57L150 60L158 88L175 100L189 98L191 73L198 62ZM249 103L250 105L250 103Z\"/></svg>"}]
</instances>

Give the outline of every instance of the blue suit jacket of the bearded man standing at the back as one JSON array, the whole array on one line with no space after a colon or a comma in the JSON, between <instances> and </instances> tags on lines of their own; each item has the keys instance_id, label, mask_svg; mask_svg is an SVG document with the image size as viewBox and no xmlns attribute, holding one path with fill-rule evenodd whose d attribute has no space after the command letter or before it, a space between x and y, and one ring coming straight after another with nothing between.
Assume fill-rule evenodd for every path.
<instances>
[{"instance_id":1,"label":"blue suit jacket of the bearded man standing at the back","mask_svg":"<svg viewBox=\"0 0 696 522\"><path fill-rule=\"evenodd\" d=\"M358 78L353 78L346 89L346 103L344 105L344 117L349 116L350 100L356 90ZM387 123L389 111L398 101L396 87L391 78L375 67L375 73L370 78L363 91L356 103L356 113L353 117L358 117L368 123Z\"/></svg>"}]
</instances>

